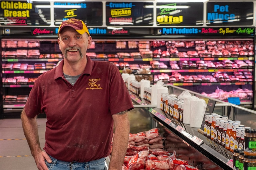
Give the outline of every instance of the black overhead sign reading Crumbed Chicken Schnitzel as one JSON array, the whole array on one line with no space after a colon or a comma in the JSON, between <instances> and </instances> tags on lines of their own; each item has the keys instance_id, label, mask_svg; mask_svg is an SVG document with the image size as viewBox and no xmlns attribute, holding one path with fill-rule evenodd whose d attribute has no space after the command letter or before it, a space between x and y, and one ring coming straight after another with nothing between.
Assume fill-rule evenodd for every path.
<instances>
[{"instance_id":1,"label":"black overhead sign reading Crumbed Chicken Schnitzel","mask_svg":"<svg viewBox=\"0 0 256 170\"><path fill-rule=\"evenodd\" d=\"M153 25L153 3L106 2L106 25Z\"/></svg>"}]
</instances>

